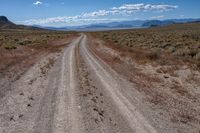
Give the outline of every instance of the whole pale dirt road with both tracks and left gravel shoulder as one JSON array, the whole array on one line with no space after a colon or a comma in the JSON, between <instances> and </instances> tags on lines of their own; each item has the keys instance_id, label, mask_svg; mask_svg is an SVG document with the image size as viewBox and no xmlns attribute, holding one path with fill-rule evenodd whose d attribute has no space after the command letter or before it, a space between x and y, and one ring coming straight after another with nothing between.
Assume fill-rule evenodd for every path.
<instances>
[{"instance_id":1,"label":"whole pale dirt road with both tracks and left gravel shoulder","mask_svg":"<svg viewBox=\"0 0 200 133\"><path fill-rule=\"evenodd\" d=\"M81 34L12 83L0 99L0 133L176 132L156 126L141 109L148 108L134 84L96 56Z\"/></svg>"}]
</instances>

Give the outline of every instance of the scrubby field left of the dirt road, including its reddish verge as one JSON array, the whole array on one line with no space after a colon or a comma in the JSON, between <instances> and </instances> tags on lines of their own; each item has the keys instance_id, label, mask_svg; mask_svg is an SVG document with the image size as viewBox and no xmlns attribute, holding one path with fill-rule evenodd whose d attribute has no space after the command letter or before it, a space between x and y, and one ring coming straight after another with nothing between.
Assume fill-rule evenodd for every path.
<instances>
[{"instance_id":1,"label":"scrubby field left of the dirt road, including its reddish verge","mask_svg":"<svg viewBox=\"0 0 200 133\"><path fill-rule=\"evenodd\" d=\"M0 79L14 81L43 56L60 52L77 36L75 32L0 30ZM3 86L1 86L3 88ZM4 89L0 95L4 95Z\"/></svg>"}]
</instances>

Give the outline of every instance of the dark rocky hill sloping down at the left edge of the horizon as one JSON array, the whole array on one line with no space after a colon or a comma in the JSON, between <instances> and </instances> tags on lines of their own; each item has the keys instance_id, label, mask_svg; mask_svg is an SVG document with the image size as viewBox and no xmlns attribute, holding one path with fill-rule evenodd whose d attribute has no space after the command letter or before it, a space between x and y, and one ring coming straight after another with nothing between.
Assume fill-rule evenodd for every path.
<instances>
[{"instance_id":1,"label":"dark rocky hill sloping down at the left edge of the horizon","mask_svg":"<svg viewBox=\"0 0 200 133\"><path fill-rule=\"evenodd\" d=\"M40 29L33 26L16 25L5 16L0 16L0 29Z\"/></svg>"}]
</instances>

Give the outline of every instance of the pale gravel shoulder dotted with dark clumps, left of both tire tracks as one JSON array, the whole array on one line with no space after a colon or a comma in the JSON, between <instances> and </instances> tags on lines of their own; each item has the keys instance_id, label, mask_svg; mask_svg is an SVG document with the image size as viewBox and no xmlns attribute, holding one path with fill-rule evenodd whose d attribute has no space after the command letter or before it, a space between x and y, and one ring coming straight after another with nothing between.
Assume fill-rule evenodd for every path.
<instances>
[{"instance_id":1,"label":"pale gravel shoulder dotted with dark clumps, left of both tire tracks","mask_svg":"<svg viewBox=\"0 0 200 133\"><path fill-rule=\"evenodd\" d=\"M10 85L12 91L0 99L0 132L21 133L33 129L42 106L39 103L48 89L47 75L58 57L59 54L45 56Z\"/></svg>"}]
</instances>

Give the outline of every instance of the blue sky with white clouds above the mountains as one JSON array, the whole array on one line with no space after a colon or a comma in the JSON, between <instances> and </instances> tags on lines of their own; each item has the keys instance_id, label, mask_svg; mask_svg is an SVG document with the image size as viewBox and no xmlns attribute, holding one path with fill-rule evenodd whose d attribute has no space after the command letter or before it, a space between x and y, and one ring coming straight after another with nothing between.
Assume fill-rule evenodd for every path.
<instances>
[{"instance_id":1,"label":"blue sky with white clouds above the mountains","mask_svg":"<svg viewBox=\"0 0 200 133\"><path fill-rule=\"evenodd\" d=\"M54 27L200 18L200 0L0 0L0 15L17 24Z\"/></svg>"}]
</instances>

